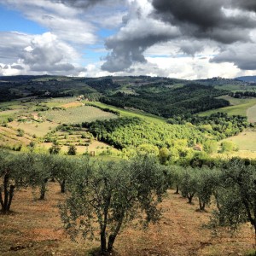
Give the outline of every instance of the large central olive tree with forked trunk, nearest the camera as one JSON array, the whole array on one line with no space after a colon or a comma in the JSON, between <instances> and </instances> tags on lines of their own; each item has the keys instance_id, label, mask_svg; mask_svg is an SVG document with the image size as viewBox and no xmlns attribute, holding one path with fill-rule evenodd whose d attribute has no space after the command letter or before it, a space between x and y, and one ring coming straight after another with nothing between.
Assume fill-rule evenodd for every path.
<instances>
[{"instance_id":1,"label":"large central olive tree with forked trunk, nearest the camera","mask_svg":"<svg viewBox=\"0 0 256 256\"><path fill-rule=\"evenodd\" d=\"M61 219L72 238L100 233L101 252L111 253L122 227L135 218L145 224L160 218L156 208L166 191L162 167L146 155L135 160L90 163L76 172Z\"/></svg>"}]
</instances>

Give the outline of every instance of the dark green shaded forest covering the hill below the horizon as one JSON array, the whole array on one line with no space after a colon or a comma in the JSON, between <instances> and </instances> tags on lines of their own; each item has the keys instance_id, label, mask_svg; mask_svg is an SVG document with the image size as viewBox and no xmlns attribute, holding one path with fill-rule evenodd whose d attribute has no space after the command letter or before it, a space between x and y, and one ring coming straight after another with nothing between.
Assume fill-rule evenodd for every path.
<instances>
[{"instance_id":1,"label":"dark green shaded forest covering the hill below the horizon","mask_svg":"<svg viewBox=\"0 0 256 256\"><path fill-rule=\"evenodd\" d=\"M140 86L135 91L137 95L117 92L112 96L102 97L100 101L120 108L138 108L165 118L230 105L230 102L216 98L227 94L227 91L201 84L187 84L173 89L164 85L149 84Z\"/></svg>"}]
</instances>

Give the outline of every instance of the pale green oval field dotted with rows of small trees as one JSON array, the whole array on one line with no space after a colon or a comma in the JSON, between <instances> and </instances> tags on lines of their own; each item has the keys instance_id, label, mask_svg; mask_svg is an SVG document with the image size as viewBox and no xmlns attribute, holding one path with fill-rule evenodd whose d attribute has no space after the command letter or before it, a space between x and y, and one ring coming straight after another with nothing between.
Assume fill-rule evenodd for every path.
<instances>
[{"instance_id":1,"label":"pale green oval field dotted with rows of small trees","mask_svg":"<svg viewBox=\"0 0 256 256\"><path fill-rule=\"evenodd\" d=\"M117 115L104 112L99 108L83 106L78 108L68 108L67 110L50 110L42 113L46 119L57 123L77 124L82 122L92 122L96 119L114 119Z\"/></svg>"}]
</instances>

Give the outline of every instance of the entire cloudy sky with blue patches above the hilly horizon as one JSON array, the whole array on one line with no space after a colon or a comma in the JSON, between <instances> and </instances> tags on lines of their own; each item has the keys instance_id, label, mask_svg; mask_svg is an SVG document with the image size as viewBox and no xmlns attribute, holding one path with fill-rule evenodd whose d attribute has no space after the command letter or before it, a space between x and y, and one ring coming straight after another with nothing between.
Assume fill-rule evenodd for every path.
<instances>
[{"instance_id":1,"label":"entire cloudy sky with blue patches above the hilly horizon","mask_svg":"<svg viewBox=\"0 0 256 256\"><path fill-rule=\"evenodd\" d=\"M256 74L255 0L0 0L0 75Z\"/></svg>"}]
</instances>

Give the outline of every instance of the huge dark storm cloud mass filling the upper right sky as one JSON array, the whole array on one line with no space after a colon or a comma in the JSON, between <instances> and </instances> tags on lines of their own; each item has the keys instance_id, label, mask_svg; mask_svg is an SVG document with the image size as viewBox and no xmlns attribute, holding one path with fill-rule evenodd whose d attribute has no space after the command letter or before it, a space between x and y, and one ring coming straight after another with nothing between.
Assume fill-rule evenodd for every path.
<instances>
[{"instance_id":1,"label":"huge dark storm cloud mass filling the upper right sky","mask_svg":"<svg viewBox=\"0 0 256 256\"><path fill-rule=\"evenodd\" d=\"M218 55L225 46L254 44L256 2L253 0L129 0L128 3L123 26L105 42L110 53L102 70L129 71L134 63L147 62L145 55L150 56L152 48L170 42L171 48L162 47L163 55L194 57L201 55L208 45L212 47L211 54ZM236 62L234 59L233 63Z\"/></svg>"}]
</instances>

